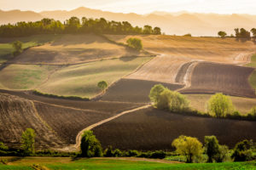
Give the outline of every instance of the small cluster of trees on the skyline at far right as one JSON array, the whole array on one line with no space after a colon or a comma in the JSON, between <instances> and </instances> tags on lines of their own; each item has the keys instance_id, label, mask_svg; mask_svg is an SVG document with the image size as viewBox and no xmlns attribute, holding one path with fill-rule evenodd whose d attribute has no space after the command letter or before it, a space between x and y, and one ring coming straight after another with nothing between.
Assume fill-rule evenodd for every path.
<instances>
[{"instance_id":1,"label":"small cluster of trees on the skyline at far right","mask_svg":"<svg viewBox=\"0 0 256 170\"><path fill-rule=\"evenodd\" d=\"M251 29L251 31L247 31L244 28L236 28L235 29L235 36L236 38L250 38L252 32L252 37L256 37L256 28ZM226 37L227 33L225 31L218 31L219 37ZM233 34L231 34L230 37L235 37Z\"/></svg>"}]
</instances>

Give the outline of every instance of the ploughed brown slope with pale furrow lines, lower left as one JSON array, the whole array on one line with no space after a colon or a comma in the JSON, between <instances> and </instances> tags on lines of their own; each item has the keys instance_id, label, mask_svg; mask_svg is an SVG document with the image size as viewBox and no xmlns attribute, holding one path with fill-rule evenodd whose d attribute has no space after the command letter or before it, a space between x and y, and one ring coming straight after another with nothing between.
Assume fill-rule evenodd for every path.
<instances>
[{"instance_id":1,"label":"ploughed brown slope with pale furrow lines, lower left","mask_svg":"<svg viewBox=\"0 0 256 170\"><path fill-rule=\"evenodd\" d=\"M27 127L33 128L37 133L37 148L60 147L66 144L38 115L32 101L0 94L0 141L17 146Z\"/></svg>"}]
</instances>

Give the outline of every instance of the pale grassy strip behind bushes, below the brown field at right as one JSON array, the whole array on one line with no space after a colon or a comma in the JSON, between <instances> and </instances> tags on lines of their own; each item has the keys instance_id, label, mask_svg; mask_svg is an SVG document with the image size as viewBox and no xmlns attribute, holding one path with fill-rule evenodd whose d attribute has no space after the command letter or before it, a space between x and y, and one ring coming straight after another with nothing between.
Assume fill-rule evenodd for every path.
<instances>
[{"instance_id":1,"label":"pale grassy strip behind bushes, below the brown field at right","mask_svg":"<svg viewBox=\"0 0 256 170\"><path fill-rule=\"evenodd\" d=\"M207 101L211 98L210 94L186 94L190 101L190 106L199 111L207 111ZM241 97L230 96L233 105L237 111L240 111L241 114L246 114L256 105L256 99L248 99Z\"/></svg>"}]
</instances>

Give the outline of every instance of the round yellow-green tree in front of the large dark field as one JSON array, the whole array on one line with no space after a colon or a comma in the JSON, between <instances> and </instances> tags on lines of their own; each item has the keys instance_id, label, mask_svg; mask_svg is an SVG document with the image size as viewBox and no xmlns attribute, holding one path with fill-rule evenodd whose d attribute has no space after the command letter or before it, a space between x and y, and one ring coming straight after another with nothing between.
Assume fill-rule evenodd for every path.
<instances>
[{"instance_id":1,"label":"round yellow-green tree in front of the large dark field","mask_svg":"<svg viewBox=\"0 0 256 170\"><path fill-rule=\"evenodd\" d=\"M176 148L177 153L186 157L186 162L193 162L195 156L201 156L202 144L201 142L193 137L179 136L174 139L172 146Z\"/></svg>"}]
</instances>

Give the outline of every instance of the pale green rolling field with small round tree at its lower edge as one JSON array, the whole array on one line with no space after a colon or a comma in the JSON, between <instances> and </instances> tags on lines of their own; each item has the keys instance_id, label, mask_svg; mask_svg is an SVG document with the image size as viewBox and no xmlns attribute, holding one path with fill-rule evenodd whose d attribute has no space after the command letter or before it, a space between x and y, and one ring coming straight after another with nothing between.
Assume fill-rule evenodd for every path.
<instances>
[{"instance_id":1,"label":"pale green rolling field with small round tree at its lower edge","mask_svg":"<svg viewBox=\"0 0 256 170\"><path fill-rule=\"evenodd\" d=\"M38 91L47 94L93 97L101 92L97 82L108 84L119 80L151 57L106 59L82 65L72 65L56 71Z\"/></svg>"}]
</instances>

